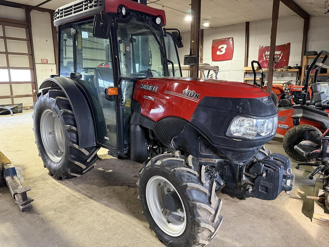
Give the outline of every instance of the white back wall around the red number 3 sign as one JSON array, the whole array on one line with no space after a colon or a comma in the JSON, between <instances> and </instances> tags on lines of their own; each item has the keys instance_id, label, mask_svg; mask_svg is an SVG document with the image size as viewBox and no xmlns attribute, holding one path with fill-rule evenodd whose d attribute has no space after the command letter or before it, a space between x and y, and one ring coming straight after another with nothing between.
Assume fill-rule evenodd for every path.
<instances>
[{"instance_id":1,"label":"white back wall around the red number 3 sign","mask_svg":"<svg viewBox=\"0 0 329 247\"><path fill-rule=\"evenodd\" d=\"M306 50L329 50L329 18L311 16ZM304 20L298 15L280 17L276 44L290 42L289 65L300 65L303 40ZM249 24L249 55L248 66L252 60L258 60L259 45L270 44L271 19L253 21ZM183 33L184 48L179 49L181 63L184 55L190 53L190 33ZM212 62L212 40L233 37L233 60ZM204 30L204 63L219 67L218 79L242 81L244 67L245 23ZM184 73L183 73L184 75Z\"/></svg>"}]
</instances>

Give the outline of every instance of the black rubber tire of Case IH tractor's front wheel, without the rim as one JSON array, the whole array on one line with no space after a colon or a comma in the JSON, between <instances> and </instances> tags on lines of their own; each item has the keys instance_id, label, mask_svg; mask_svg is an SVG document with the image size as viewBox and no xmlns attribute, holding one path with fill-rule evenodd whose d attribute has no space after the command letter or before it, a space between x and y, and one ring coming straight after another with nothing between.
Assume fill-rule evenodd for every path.
<instances>
[{"instance_id":1,"label":"black rubber tire of Case IH tractor's front wheel, without the rim","mask_svg":"<svg viewBox=\"0 0 329 247\"><path fill-rule=\"evenodd\" d=\"M146 185L150 178L161 176L176 188L182 198L187 225L184 233L172 237L164 233L148 209ZM139 200L144 215L156 236L170 247L205 246L218 233L223 217L220 215L222 201L216 196L215 182L208 179L204 167L200 167L190 155L186 160L180 152L160 154L144 162L139 170Z\"/></svg>"}]
</instances>

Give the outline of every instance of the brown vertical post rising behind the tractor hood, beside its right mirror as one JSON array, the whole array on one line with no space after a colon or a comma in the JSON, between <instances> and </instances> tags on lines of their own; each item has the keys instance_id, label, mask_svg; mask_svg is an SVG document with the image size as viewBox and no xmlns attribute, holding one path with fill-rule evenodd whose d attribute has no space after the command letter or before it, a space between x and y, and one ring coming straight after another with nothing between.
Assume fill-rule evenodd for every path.
<instances>
[{"instance_id":1,"label":"brown vertical post rising behind the tractor hood, beside its right mirror","mask_svg":"<svg viewBox=\"0 0 329 247\"><path fill-rule=\"evenodd\" d=\"M191 43L192 53L198 57L198 64L191 65L190 77L198 78L200 56L201 0L191 0Z\"/></svg>"}]
</instances>

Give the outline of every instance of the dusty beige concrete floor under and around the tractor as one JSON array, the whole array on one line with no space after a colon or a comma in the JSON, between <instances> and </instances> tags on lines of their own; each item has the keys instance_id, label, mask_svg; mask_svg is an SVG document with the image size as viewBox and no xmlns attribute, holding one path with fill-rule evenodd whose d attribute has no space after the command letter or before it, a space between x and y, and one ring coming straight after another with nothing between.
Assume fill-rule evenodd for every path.
<instances>
[{"instance_id":1,"label":"dusty beige concrete floor under and around the tractor","mask_svg":"<svg viewBox=\"0 0 329 247\"><path fill-rule=\"evenodd\" d=\"M0 150L21 168L31 187L33 210L21 213L7 188L0 188L0 246L164 246L148 229L137 200L140 164L109 158L106 150L95 168L80 178L57 181L38 157L32 111L0 116ZM267 146L284 153L282 138ZM294 164L294 163L293 163ZM293 166L294 167L294 166ZM223 224L208 246L328 246L329 226L311 222L312 170L295 170L293 199L280 202L218 194Z\"/></svg>"}]
</instances>

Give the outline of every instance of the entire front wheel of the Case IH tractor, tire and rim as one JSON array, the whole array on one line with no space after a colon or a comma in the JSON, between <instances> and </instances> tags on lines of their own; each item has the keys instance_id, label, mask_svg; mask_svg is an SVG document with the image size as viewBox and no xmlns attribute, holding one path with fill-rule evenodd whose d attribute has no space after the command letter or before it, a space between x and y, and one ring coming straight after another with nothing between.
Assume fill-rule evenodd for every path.
<instances>
[{"instance_id":1,"label":"entire front wheel of the Case IH tractor, tire and rim","mask_svg":"<svg viewBox=\"0 0 329 247\"><path fill-rule=\"evenodd\" d=\"M150 229L167 246L205 246L218 233L222 201L215 194L216 182L208 179L191 155L186 160L177 151L150 158L139 170L137 187ZM163 199L168 191L177 194L174 205L180 201L179 209L168 210L171 205ZM177 214L182 214L182 222L173 219Z\"/></svg>"}]
</instances>

